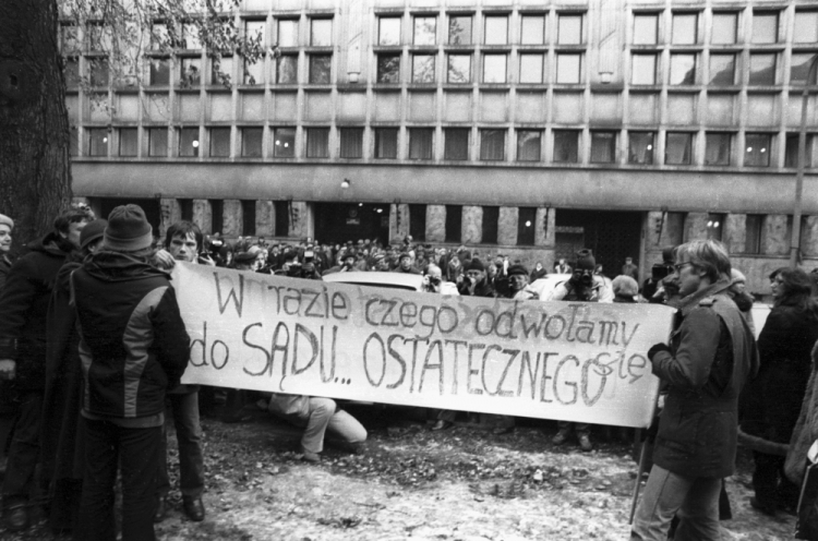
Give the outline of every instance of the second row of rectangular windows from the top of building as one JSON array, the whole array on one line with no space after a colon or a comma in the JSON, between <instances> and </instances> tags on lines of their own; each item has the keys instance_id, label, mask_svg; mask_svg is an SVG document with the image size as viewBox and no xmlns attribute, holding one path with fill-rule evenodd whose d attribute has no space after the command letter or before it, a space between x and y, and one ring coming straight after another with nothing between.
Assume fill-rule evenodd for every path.
<instances>
[{"instance_id":1,"label":"second row of rectangular windows from the top of building","mask_svg":"<svg viewBox=\"0 0 818 541\"><path fill-rule=\"evenodd\" d=\"M734 86L742 84L744 73L747 73L747 83L750 86L773 86L781 77L780 55L777 52L753 51L748 57L738 52L711 52L708 56L707 79L705 83L711 86ZM790 84L803 85L809 72L809 65L815 59L815 52L793 52L790 62ZM437 73L437 53L412 53L411 79L412 84L435 84L441 76ZM516 83L519 84L543 84L551 79L556 84L579 84L582 82L581 52L557 52L555 53L555 70L549 75L548 53L544 52L519 52L517 55ZM110 79L109 64L106 58L88 57L88 83L95 87L107 87ZM513 58L512 58L513 59ZM509 83L509 55L508 53L481 53L480 81L484 84ZM308 55L306 69L309 84L332 83L332 55ZM378 53L376 55L375 83L399 84L401 77L402 55ZM473 59L471 53L446 55L445 82L447 84L470 84ZM667 84L673 86L685 86L700 84L705 77L703 68L700 67L699 55L696 52L672 52L666 70ZM748 69L743 70L742 64ZM664 80L662 65L662 53L660 52L635 52L630 61L630 84L657 85ZM202 59L183 57L177 62L178 77L176 83L180 87L195 87L202 84ZM269 80L272 84L294 85L299 84L299 56L281 55L276 59L272 68ZM212 65L209 84L218 84L221 74L232 71L232 59L221 58L219 64ZM154 58L148 67L148 86L169 86L171 84L171 61L166 58ZM406 75L405 75L406 77ZM242 83L245 85L264 85L265 67L263 62L245 63L242 73ZM65 81L69 88L80 84L80 64L76 57L69 57L65 63ZM811 83L815 84L815 75Z\"/></svg>"}]
</instances>

